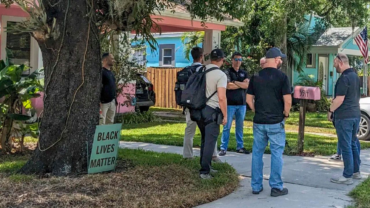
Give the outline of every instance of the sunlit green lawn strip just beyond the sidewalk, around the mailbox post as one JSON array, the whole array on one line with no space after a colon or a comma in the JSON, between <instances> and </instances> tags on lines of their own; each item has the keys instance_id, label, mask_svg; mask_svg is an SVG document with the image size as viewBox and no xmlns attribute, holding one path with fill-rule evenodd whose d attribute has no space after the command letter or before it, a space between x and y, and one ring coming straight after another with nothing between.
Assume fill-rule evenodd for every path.
<instances>
[{"instance_id":1,"label":"sunlit green lawn strip just beyond the sidewalk, around the mailbox post","mask_svg":"<svg viewBox=\"0 0 370 208\"><path fill-rule=\"evenodd\" d=\"M167 144L182 146L185 123L144 123L135 125L124 125L121 140L150 142L154 144ZM220 132L222 127L220 127ZM193 147L200 147L201 135L197 128L193 142ZM286 139L288 146L285 148L285 154L295 155L297 147L297 133L287 132ZM252 150L253 133L252 128L244 129L244 146L247 150ZM218 138L218 145L221 144L221 133ZM361 148L369 148L370 142L362 142ZM305 134L305 155L331 155L336 152L337 139L333 137L322 137L312 134ZM229 140L229 150L236 150L235 128L232 127ZM270 153L269 147L266 153Z\"/></svg>"}]
</instances>

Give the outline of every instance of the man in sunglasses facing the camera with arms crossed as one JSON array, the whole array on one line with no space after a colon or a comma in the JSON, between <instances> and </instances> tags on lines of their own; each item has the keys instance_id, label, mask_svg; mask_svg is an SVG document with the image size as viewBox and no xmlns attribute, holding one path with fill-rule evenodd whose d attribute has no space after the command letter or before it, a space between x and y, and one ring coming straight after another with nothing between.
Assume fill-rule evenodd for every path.
<instances>
[{"instance_id":1,"label":"man in sunglasses facing the camera with arms crossed","mask_svg":"<svg viewBox=\"0 0 370 208\"><path fill-rule=\"evenodd\" d=\"M242 54L235 52L232 55L232 67L224 72L228 78L226 90L226 98L228 102L228 123L223 127L220 152L218 155L226 155L228 149L230 128L235 115L235 137L236 137L236 152L249 154L249 151L244 148L243 128L244 117L246 111L246 89L249 85L249 76L245 70L240 68L242 64Z\"/></svg>"}]
</instances>

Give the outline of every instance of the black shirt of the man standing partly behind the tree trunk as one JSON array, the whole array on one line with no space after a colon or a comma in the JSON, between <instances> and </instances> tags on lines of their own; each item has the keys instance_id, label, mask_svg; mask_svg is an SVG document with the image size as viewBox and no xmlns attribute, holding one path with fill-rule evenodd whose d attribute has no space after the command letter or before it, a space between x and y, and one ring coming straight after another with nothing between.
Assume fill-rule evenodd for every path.
<instances>
[{"instance_id":1,"label":"black shirt of the man standing partly behind the tree trunk","mask_svg":"<svg viewBox=\"0 0 370 208\"><path fill-rule=\"evenodd\" d=\"M116 96L115 77L111 70L102 68L101 70L102 88L100 93L101 103L110 103Z\"/></svg>"}]
</instances>

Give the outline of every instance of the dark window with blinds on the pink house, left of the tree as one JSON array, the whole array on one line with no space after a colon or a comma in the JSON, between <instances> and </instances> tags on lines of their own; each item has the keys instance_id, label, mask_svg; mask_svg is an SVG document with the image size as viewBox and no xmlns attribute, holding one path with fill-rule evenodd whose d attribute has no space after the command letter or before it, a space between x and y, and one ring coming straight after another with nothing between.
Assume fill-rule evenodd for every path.
<instances>
[{"instance_id":1,"label":"dark window with blinds on the pink house, left of the tree","mask_svg":"<svg viewBox=\"0 0 370 208\"><path fill-rule=\"evenodd\" d=\"M7 22L7 27L14 26L16 22ZM30 66L31 56L31 36L29 33L7 33L6 47L13 53L13 61L16 65L25 64ZM24 75L29 75L30 70L23 72Z\"/></svg>"}]
</instances>

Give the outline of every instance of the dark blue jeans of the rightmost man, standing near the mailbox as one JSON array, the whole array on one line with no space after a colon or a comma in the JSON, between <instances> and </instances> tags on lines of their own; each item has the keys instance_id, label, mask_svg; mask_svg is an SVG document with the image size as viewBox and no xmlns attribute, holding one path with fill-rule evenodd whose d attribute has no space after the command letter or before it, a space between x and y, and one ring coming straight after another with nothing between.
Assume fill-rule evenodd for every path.
<instances>
[{"instance_id":1,"label":"dark blue jeans of the rightmost man, standing near the mailbox","mask_svg":"<svg viewBox=\"0 0 370 208\"><path fill-rule=\"evenodd\" d=\"M343 176L352 177L354 172L360 171L360 154L357 147L357 130L360 118L348 118L335 120L335 128L338 135L339 147L342 150L344 163Z\"/></svg>"}]
</instances>

